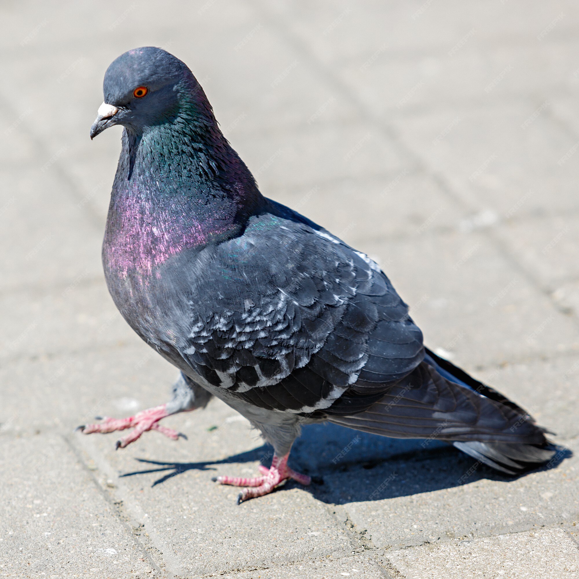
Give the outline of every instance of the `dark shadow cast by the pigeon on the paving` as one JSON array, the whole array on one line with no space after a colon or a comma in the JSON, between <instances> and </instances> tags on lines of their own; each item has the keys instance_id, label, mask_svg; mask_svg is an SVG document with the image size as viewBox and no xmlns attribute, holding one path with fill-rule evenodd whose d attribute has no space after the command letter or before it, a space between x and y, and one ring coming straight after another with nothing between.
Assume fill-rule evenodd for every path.
<instances>
[{"instance_id":1,"label":"dark shadow cast by the pigeon on the paving","mask_svg":"<svg viewBox=\"0 0 579 579\"><path fill-rule=\"evenodd\" d=\"M273 456L269 445L222 460L175 463L137 459L150 468L127 472L122 477L164 473L153 487L188 470L217 471L222 464L253 463L268 466ZM558 447L554 457L535 471L550 470L572 456ZM396 439L350 430L336 424L310 424L295 442L290 464L310 474L314 483L309 492L325 503L344 504L390 499L432 490L449 489L479 479L513 481L472 459L453 446L435 439ZM285 488L297 486L290 482Z\"/></svg>"}]
</instances>

